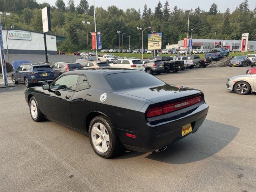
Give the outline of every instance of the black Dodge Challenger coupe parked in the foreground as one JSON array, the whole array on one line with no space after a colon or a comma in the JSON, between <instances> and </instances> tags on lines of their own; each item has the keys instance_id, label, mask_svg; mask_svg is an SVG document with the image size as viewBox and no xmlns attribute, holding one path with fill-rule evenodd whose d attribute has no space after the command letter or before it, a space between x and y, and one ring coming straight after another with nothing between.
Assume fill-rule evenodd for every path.
<instances>
[{"instance_id":1,"label":"black Dodge Challenger coupe parked in the foreground","mask_svg":"<svg viewBox=\"0 0 256 192\"><path fill-rule=\"evenodd\" d=\"M208 112L200 90L115 68L66 72L50 85L28 88L25 98L34 121L47 118L89 136L104 158L124 148L164 150L196 132Z\"/></svg>"}]
</instances>

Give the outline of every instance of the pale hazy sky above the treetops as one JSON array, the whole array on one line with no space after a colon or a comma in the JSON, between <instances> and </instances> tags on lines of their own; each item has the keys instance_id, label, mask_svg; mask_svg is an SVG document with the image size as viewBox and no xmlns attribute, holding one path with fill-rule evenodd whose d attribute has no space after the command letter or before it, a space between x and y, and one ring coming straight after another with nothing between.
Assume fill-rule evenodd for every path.
<instances>
[{"instance_id":1,"label":"pale hazy sky above the treetops","mask_svg":"<svg viewBox=\"0 0 256 192\"><path fill-rule=\"evenodd\" d=\"M39 3L48 2L51 5L55 5L55 0L37 0ZM80 0L74 0L75 5L79 4ZM68 0L64 0L67 4ZM126 9L126 8L135 8L138 10L143 10L145 4L154 10L154 7L157 4L157 0L95 0L95 6L99 7L102 6L106 9L108 6L115 5L118 8ZM160 0L162 4L166 2L166 0ZM197 6L200 6L201 9L208 11L212 3L216 3L218 6L218 10L221 12L225 12L227 8L230 8L233 11L243 0L182 0L182 1L175 1L168 0L170 8L173 9L175 4L177 4L178 8L182 9L194 9ZM93 4L93 0L88 0L89 5ZM249 0L250 10L253 10L256 6L255 0Z\"/></svg>"}]
</instances>

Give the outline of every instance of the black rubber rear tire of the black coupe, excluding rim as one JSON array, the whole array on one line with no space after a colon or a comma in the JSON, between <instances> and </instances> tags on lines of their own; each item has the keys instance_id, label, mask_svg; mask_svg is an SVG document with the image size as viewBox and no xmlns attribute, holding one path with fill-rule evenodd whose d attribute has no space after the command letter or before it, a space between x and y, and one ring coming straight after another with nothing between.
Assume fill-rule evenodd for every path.
<instances>
[{"instance_id":1,"label":"black rubber rear tire of the black coupe, excluding rim","mask_svg":"<svg viewBox=\"0 0 256 192\"><path fill-rule=\"evenodd\" d=\"M109 137L109 142L108 142L108 150L106 150L106 152L102 153L100 152L93 144L92 141L92 128L96 123L101 123L105 126L107 133L108 133L108 137ZM114 126L113 124L110 122L110 120L105 117L105 116L97 116L95 118L92 119L92 121L90 122L90 126L89 126L89 139L90 139L90 144L94 150L94 152L98 155L101 156L103 158L112 158L114 156L119 155L122 150L124 149L122 143L120 142L118 135L116 134L115 130L114 130Z\"/></svg>"}]
</instances>

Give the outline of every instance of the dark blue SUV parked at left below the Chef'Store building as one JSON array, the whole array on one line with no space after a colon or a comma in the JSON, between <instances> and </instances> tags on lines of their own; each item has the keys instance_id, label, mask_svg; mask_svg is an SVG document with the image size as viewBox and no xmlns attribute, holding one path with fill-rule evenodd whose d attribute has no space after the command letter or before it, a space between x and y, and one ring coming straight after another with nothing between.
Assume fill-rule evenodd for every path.
<instances>
[{"instance_id":1,"label":"dark blue SUV parked at left below the Chef'Store building","mask_svg":"<svg viewBox=\"0 0 256 192\"><path fill-rule=\"evenodd\" d=\"M12 82L24 82L26 87L40 82L50 82L55 78L54 70L47 64L23 63L12 72Z\"/></svg>"}]
</instances>

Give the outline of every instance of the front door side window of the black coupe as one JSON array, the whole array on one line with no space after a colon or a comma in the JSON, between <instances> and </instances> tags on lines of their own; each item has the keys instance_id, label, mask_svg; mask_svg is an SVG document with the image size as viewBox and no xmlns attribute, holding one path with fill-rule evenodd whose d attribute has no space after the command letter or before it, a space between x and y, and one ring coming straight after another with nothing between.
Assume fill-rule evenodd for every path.
<instances>
[{"instance_id":1,"label":"front door side window of the black coupe","mask_svg":"<svg viewBox=\"0 0 256 192\"><path fill-rule=\"evenodd\" d=\"M58 80L56 80L50 88L75 91L77 80L78 75L64 75Z\"/></svg>"}]
</instances>

